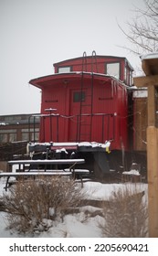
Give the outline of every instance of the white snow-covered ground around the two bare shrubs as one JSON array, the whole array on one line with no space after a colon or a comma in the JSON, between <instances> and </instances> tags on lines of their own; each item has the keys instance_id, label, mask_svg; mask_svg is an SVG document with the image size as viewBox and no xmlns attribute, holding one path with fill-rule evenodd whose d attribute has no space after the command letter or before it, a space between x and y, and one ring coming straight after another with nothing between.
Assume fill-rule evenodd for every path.
<instances>
[{"instance_id":1,"label":"white snow-covered ground around the two bare shrubs","mask_svg":"<svg viewBox=\"0 0 158 256\"><path fill-rule=\"evenodd\" d=\"M117 191L119 188L125 186L130 186L135 189L137 186L140 191L145 191L147 195L147 184L101 184L100 182L88 181L84 183L82 188L88 197L93 199L108 199L111 196L112 191ZM3 196L5 192L5 177L0 179L0 197ZM95 217L85 218L85 210L93 211L96 208L90 206L81 208L78 214L66 215L63 222L57 220L54 223L53 228L48 229L48 231L43 231L41 233L36 233L34 235L27 234L21 235L14 230L6 229L7 219L5 212L0 211L0 237L1 238L17 238L17 237L39 237L39 238L101 238L101 230L99 228L99 223L102 219L99 215Z\"/></svg>"}]
</instances>

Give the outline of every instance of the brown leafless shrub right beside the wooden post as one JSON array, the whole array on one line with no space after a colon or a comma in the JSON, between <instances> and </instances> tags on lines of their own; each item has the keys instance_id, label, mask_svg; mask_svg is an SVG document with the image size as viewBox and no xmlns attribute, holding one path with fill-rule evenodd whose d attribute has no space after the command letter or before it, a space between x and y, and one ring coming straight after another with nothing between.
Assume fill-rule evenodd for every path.
<instances>
[{"instance_id":1,"label":"brown leafless shrub right beside the wooden post","mask_svg":"<svg viewBox=\"0 0 158 256\"><path fill-rule=\"evenodd\" d=\"M100 229L109 238L145 238L147 229L147 202L144 192L133 193L130 187L113 192L109 203L103 206L103 223Z\"/></svg>"}]
</instances>

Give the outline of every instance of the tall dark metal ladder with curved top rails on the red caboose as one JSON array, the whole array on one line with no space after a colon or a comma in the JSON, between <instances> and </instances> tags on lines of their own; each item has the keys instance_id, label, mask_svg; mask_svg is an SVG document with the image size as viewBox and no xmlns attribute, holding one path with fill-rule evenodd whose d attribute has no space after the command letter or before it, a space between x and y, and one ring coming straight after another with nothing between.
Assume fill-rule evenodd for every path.
<instances>
[{"instance_id":1,"label":"tall dark metal ladder with curved top rails on the red caboose","mask_svg":"<svg viewBox=\"0 0 158 256\"><path fill-rule=\"evenodd\" d=\"M95 60L95 62L94 62ZM93 65L96 65L96 70L98 72L97 67L97 58L96 52L92 51L91 55L91 85L90 91L89 87L86 85L84 81L84 68L87 71L87 54L86 52L83 53L83 60L82 60L82 77L81 77L81 97L80 97L80 112L79 112L79 142L82 141L91 141L91 131L92 131L92 112L93 112ZM89 91L89 94L85 93L84 99L84 92ZM88 102L86 102L88 101ZM86 111L87 109L87 111Z\"/></svg>"}]
</instances>

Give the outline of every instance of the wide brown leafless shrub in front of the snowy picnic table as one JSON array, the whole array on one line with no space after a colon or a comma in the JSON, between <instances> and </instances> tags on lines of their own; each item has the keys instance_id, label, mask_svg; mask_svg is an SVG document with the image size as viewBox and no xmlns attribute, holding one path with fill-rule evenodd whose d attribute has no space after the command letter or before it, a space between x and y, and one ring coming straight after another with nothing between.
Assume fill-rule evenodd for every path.
<instances>
[{"instance_id":1,"label":"wide brown leafless shrub in front of the snowy picnic table","mask_svg":"<svg viewBox=\"0 0 158 256\"><path fill-rule=\"evenodd\" d=\"M48 229L53 220L63 218L67 208L79 204L80 190L73 180L61 176L19 180L4 197L10 228L20 232Z\"/></svg>"}]
</instances>

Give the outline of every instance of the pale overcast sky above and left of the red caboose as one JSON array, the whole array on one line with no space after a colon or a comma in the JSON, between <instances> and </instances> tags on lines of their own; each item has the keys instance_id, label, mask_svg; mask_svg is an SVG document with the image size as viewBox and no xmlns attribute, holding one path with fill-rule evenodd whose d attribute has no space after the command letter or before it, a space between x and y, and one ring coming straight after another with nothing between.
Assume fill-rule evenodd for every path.
<instances>
[{"instance_id":1,"label":"pale overcast sky above and left of the red caboose","mask_svg":"<svg viewBox=\"0 0 158 256\"><path fill-rule=\"evenodd\" d=\"M54 73L53 63L82 56L126 57L121 27L143 0L0 0L0 115L40 112L40 91L28 81ZM120 47L121 46L121 47Z\"/></svg>"}]
</instances>

